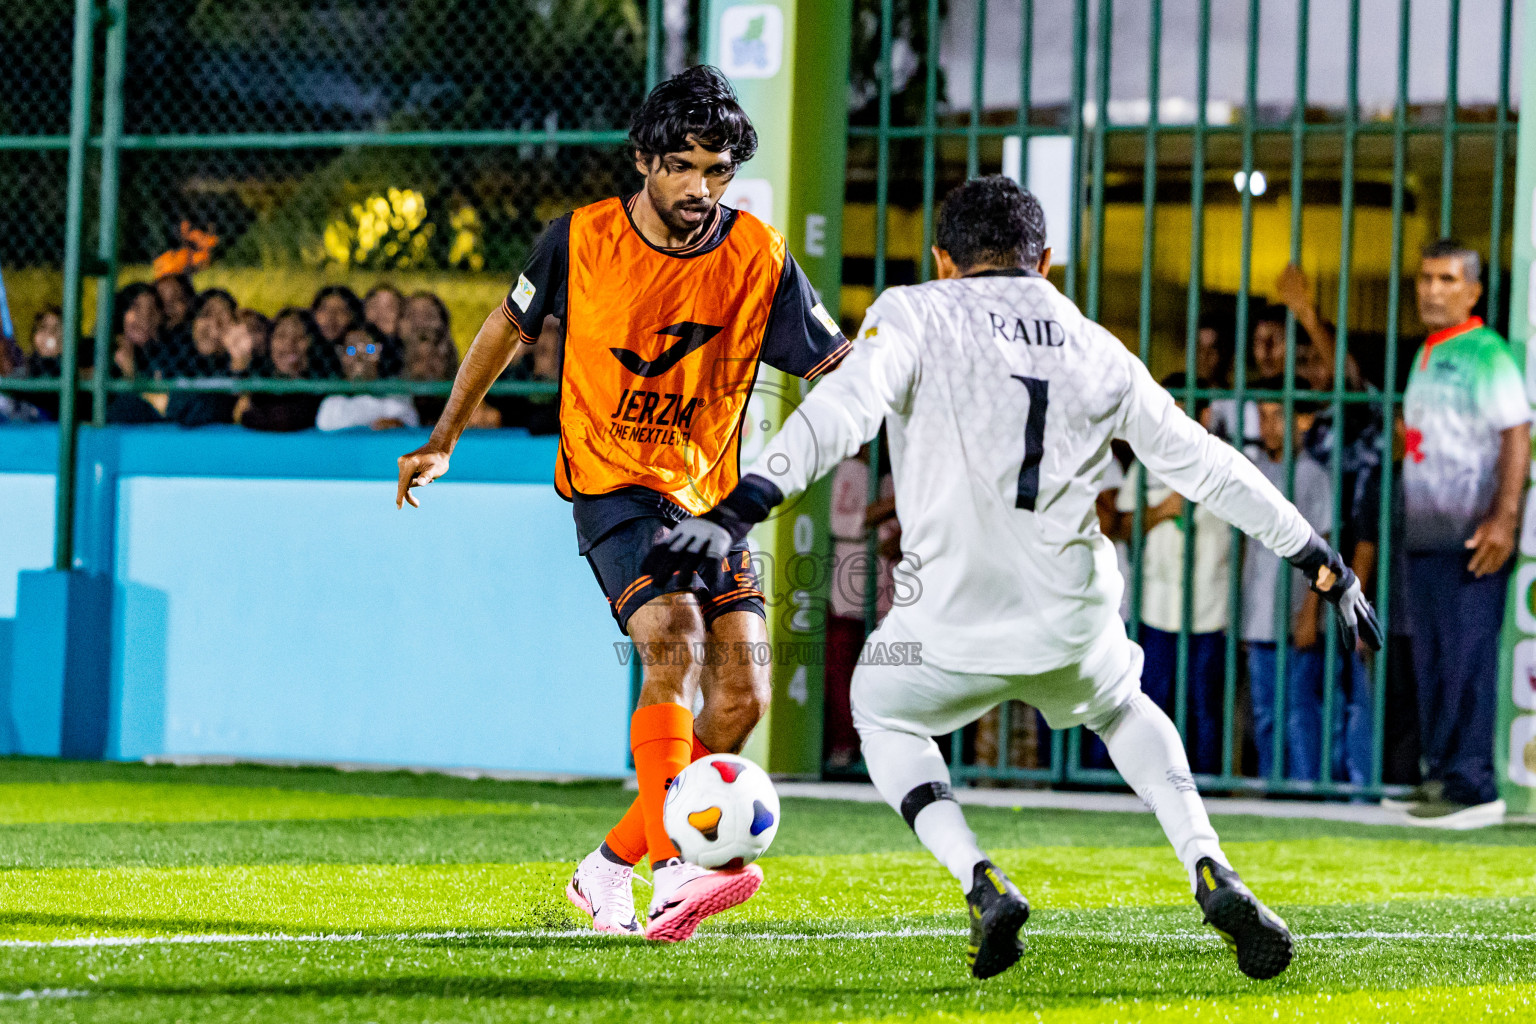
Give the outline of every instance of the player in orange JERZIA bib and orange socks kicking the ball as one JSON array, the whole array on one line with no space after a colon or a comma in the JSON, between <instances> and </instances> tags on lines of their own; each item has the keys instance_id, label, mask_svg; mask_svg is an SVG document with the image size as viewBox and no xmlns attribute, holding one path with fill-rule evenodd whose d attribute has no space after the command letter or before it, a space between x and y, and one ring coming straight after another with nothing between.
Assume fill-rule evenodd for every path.
<instances>
[{"instance_id":1,"label":"player in orange JERZIA bib and orange socks kicking the ball","mask_svg":"<svg viewBox=\"0 0 1536 1024\"><path fill-rule=\"evenodd\" d=\"M550 224L501 309L485 318L425 445L399 459L396 505L449 470L459 434L502 370L562 324L561 444L554 487L571 502L578 551L613 617L667 657L644 666L630 746L639 797L576 867L565 892L598 932L639 933L633 866L650 857L647 938L680 941L748 900L762 869L687 864L667 837L673 777L710 752L734 752L768 702L768 668L700 665L703 642L760 643L763 594L750 524L716 508L739 482L739 448L757 367L814 379L851 345L790 256L783 235L720 203L757 134L719 71L660 83L630 124L644 187ZM774 496L763 496L770 502ZM722 520L725 559L651 579L641 562L690 516ZM727 646L725 649L734 649ZM723 660L723 659L714 659ZM694 718L693 695L703 692Z\"/></svg>"}]
</instances>

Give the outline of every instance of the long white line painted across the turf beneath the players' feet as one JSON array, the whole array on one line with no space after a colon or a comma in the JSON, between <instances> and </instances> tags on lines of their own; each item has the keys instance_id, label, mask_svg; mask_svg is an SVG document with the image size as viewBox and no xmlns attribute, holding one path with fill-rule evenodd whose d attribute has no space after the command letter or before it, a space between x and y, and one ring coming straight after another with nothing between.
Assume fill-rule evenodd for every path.
<instances>
[{"instance_id":1,"label":"long white line painted across the turf beneath the players' feet","mask_svg":"<svg viewBox=\"0 0 1536 1024\"><path fill-rule=\"evenodd\" d=\"M880 938L954 938L966 935L965 929L891 929L872 932L705 932L700 940L730 941L763 941L763 943L796 943L811 940L880 940ZM1129 930L1094 930L1094 929L1035 929L1028 932L1038 938L1101 938L1112 941L1134 943L1164 943L1164 941L1197 941L1213 943L1217 936L1209 932L1129 932ZM485 930L455 930L455 932L379 932L379 933L324 933L324 935L289 935L284 932L264 932L250 935L83 935L78 938L0 940L0 949L97 949L112 946L229 946L229 944L281 944L281 943L430 943L444 940L484 940L484 938L593 938L591 929L538 930L538 929L485 929ZM1413 943L1536 943L1536 932L1312 932L1298 935L1301 941L1413 941ZM55 990L45 990L55 992ZM63 989L57 992L65 992ZM0 999L23 998L20 995L0 993ZM52 996L51 996L52 998Z\"/></svg>"}]
</instances>

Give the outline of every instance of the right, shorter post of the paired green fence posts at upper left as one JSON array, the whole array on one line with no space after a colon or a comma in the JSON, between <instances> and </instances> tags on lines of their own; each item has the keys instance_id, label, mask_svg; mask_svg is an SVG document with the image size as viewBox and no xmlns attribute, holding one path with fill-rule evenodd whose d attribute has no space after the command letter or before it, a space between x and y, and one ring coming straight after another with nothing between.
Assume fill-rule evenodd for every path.
<instances>
[{"instance_id":1,"label":"right, shorter post of the paired green fence posts at upper left","mask_svg":"<svg viewBox=\"0 0 1536 1024\"><path fill-rule=\"evenodd\" d=\"M108 0L106 63L101 69L101 197L97 213L95 368L91 372L91 422L106 424L106 382L112 365L112 299L117 290L118 143L123 137L123 74L127 51L127 0Z\"/></svg>"}]
</instances>

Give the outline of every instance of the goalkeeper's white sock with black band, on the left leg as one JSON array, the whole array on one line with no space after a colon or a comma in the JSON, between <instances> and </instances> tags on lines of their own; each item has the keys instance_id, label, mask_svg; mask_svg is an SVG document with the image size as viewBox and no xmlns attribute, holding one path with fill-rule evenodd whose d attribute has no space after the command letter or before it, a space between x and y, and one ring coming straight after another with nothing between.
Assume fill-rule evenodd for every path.
<instances>
[{"instance_id":1,"label":"goalkeeper's white sock with black band, on the left leg","mask_svg":"<svg viewBox=\"0 0 1536 1024\"><path fill-rule=\"evenodd\" d=\"M949 766L932 738L889 729L860 729L869 780L885 801L908 820L923 846L971 892L975 866L986 854L949 791Z\"/></svg>"}]
</instances>

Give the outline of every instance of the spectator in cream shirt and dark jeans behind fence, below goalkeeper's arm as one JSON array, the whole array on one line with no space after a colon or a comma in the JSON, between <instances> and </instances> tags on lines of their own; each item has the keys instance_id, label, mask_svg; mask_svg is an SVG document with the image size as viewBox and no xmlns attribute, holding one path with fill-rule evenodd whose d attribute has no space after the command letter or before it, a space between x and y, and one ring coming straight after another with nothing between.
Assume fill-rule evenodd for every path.
<instances>
[{"instance_id":1,"label":"spectator in cream shirt and dark jeans behind fence, below goalkeeper's arm","mask_svg":"<svg viewBox=\"0 0 1536 1024\"><path fill-rule=\"evenodd\" d=\"M1184 375L1163 381L1169 390L1184 387ZM1200 422L1210 428L1210 407L1197 405ZM1140 462L1126 470L1117 508L1134 513L1143 474ZM1141 688L1174 714L1178 676L1178 637L1184 625L1184 499L1161 481L1147 477L1147 510L1143 517L1146 543L1141 550L1141 649L1146 663ZM1203 505L1192 513L1195 531L1193 594L1189 622L1187 712L1184 735L1189 761L1197 772L1221 771L1221 708L1227 643L1227 565L1232 528Z\"/></svg>"}]
</instances>

